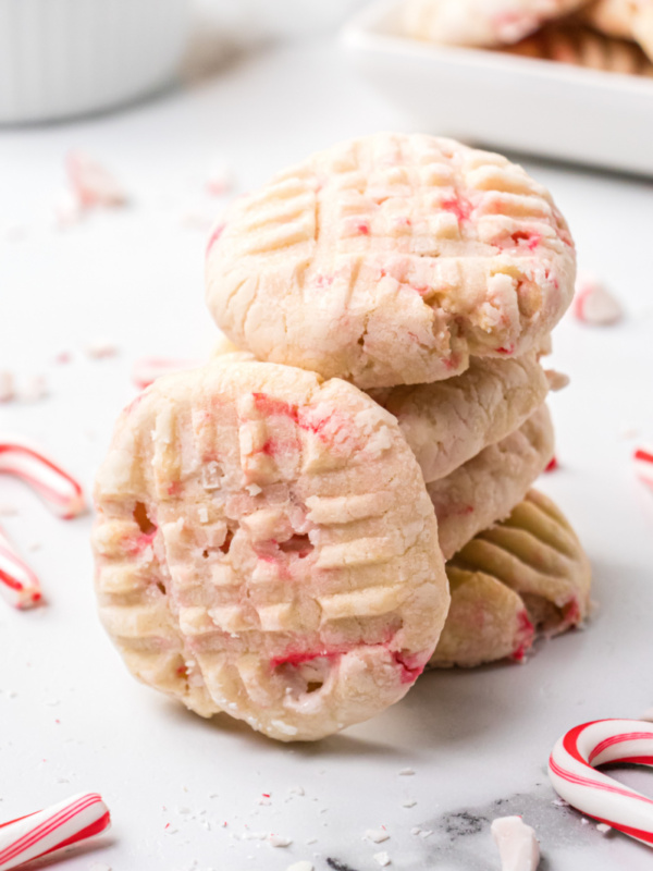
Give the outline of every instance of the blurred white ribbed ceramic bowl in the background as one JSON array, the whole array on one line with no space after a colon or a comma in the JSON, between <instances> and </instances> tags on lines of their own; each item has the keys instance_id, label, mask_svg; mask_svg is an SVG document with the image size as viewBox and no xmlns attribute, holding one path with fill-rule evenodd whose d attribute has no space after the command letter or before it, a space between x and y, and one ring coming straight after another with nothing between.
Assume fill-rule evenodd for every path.
<instances>
[{"instance_id":1,"label":"blurred white ribbed ceramic bowl in the background","mask_svg":"<svg viewBox=\"0 0 653 871\"><path fill-rule=\"evenodd\" d=\"M172 79L188 0L0 0L0 123L137 99Z\"/></svg>"}]
</instances>

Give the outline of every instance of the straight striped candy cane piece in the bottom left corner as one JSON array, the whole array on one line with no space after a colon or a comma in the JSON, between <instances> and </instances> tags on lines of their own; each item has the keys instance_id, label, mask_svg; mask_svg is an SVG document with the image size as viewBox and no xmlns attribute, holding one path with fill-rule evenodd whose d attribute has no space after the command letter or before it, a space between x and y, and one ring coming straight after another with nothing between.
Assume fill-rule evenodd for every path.
<instances>
[{"instance_id":1,"label":"straight striped candy cane piece in the bottom left corner","mask_svg":"<svg viewBox=\"0 0 653 871\"><path fill-rule=\"evenodd\" d=\"M82 793L46 810L0 824L0 871L78 844L111 825L96 793Z\"/></svg>"}]
</instances>

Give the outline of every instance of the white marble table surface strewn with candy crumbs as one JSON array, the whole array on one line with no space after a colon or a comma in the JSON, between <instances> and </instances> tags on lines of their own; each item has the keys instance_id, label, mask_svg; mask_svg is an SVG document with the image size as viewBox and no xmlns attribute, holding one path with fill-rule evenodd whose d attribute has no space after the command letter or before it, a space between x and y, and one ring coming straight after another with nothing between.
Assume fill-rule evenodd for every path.
<instances>
[{"instance_id":1,"label":"white marble table surface strewn with candy crumbs","mask_svg":"<svg viewBox=\"0 0 653 871\"><path fill-rule=\"evenodd\" d=\"M44 373L51 393L0 406L0 428L37 439L90 488L134 395L133 361L202 356L214 341L205 231L182 220L221 210L202 194L211 159L221 156L246 189L316 148L389 128L415 123L316 42L242 57L202 86L124 113L0 132L0 369ZM133 206L61 232L51 209L74 147L108 162ZM628 309L608 329L566 318L555 338L554 363L572 383L552 398L560 469L541 487L592 557L591 625L540 645L525 666L427 675L369 723L315 746L278 745L226 720L205 722L133 680L96 616L90 518L60 522L4 478L0 503L17 514L0 522L49 604L17 613L0 602L0 820L87 789L113 813L97 849L62 869L283 871L307 859L326 871L335 857L369 871L386 849L391 868L481 871L498 868L489 821L509 812L538 830L547 871L651 867L646 848L554 806L545 764L570 726L639 716L653 703L653 494L634 479L625 436L653 433L653 195L638 181L526 165L554 192L581 267ZM100 338L118 356L85 356ZM66 351L71 363L56 364ZM415 775L399 775L406 766ZM645 773L618 776L651 792ZM263 793L270 803L258 803ZM406 798L417 803L405 808ZM381 825L389 841L362 841ZM293 844L243 837L252 832Z\"/></svg>"}]
</instances>

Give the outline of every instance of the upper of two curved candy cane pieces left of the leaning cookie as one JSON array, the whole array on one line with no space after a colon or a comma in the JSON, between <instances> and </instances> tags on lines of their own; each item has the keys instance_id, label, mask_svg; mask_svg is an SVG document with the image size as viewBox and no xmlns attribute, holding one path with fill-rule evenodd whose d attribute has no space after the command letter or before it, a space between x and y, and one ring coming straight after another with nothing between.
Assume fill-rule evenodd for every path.
<instances>
[{"instance_id":1,"label":"upper of two curved candy cane pieces left of the leaning cookie","mask_svg":"<svg viewBox=\"0 0 653 871\"><path fill-rule=\"evenodd\" d=\"M24 439L0 437L0 473L25 481L65 520L86 511L77 481Z\"/></svg>"}]
</instances>

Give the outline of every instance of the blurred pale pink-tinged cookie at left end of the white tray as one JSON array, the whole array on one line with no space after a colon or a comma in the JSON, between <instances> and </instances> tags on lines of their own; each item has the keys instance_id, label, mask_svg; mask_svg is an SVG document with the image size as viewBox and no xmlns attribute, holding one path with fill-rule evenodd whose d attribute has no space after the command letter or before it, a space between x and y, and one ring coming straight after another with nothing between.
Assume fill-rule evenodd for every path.
<instances>
[{"instance_id":1,"label":"blurred pale pink-tinged cookie at left end of the white tray","mask_svg":"<svg viewBox=\"0 0 653 871\"><path fill-rule=\"evenodd\" d=\"M510 45L587 0L405 0L403 29L429 42L475 48Z\"/></svg>"}]
</instances>

